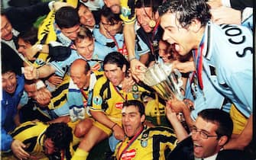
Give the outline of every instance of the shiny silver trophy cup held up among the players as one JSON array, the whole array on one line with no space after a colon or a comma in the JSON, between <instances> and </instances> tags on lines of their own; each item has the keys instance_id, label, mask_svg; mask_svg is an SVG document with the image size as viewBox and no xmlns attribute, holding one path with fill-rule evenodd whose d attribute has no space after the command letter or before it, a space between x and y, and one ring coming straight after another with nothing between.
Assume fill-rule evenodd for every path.
<instances>
[{"instance_id":1,"label":"shiny silver trophy cup held up among the players","mask_svg":"<svg viewBox=\"0 0 256 160\"><path fill-rule=\"evenodd\" d=\"M172 69L171 64L155 63L144 73L142 82L154 88L165 101L175 97L180 101L183 100L181 74L177 69Z\"/></svg>"}]
</instances>

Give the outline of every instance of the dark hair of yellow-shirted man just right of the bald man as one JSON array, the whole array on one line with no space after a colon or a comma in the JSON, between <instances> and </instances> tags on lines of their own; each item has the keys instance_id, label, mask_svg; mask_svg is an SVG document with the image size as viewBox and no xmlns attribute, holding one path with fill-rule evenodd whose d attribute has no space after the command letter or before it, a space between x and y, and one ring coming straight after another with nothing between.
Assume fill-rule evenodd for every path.
<instances>
[{"instance_id":1,"label":"dark hair of yellow-shirted man just right of the bald man","mask_svg":"<svg viewBox=\"0 0 256 160\"><path fill-rule=\"evenodd\" d=\"M128 62L128 60L125 59L125 56L123 56L122 53L118 52L112 52L105 56L103 66L105 66L106 64L115 64L121 69L124 65L126 65L126 72L128 72L128 69L130 68L130 63Z\"/></svg>"}]
</instances>

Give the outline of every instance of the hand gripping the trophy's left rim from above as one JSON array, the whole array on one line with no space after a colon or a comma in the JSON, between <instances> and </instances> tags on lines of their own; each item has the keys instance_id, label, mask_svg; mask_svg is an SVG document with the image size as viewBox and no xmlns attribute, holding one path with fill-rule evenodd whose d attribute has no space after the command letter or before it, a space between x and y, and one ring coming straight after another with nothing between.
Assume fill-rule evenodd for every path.
<instances>
[{"instance_id":1,"label":"hand gripping the trophy's left rim from above","mask_svg":"<svg viewBox=\"0 0 256 160\"><path fill-rule=\"evenodd\" d=\"M131 75L136 82L142 81L144 78L144 72L146 72L147 67L144 66L138 59L132 59L130 61L131 65Z\"/></svg>"}]
</instances>

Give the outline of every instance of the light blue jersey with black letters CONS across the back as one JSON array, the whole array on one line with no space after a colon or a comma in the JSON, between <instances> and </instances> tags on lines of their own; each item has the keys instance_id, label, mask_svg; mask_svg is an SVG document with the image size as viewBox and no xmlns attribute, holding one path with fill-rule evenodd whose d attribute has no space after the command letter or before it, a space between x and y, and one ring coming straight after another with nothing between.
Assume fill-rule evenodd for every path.
<instances>
[{"instance_id":1,"label":"light blue jersey with black letters CONS across the back","mask_svg":"<svg viewBox=\"0 0 256 160\"><path fill-rule=\"evenodd\" d=\"M210 91L207 84L211 82L212 89L232 101L245 117L250 117L253 84L251 30L235 24L218 26L209 23L203 40L203 72L207 75L207 78L203 75L204 94ZM215 94L210 98L213 96Z\"/></svg>"}]
</instances>

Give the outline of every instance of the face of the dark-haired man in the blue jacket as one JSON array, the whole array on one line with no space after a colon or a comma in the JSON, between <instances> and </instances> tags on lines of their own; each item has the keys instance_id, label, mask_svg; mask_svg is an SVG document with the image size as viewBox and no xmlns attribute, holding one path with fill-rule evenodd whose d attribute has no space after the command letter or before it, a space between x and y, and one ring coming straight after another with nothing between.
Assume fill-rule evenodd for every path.
<instances>
[{"instance_id":1,"label":"face of the dark-haired man in the blue jacket","mask_svg":"<svg viewBox=\"0 0 256 160\"><path fill-rule=\"evenodd\" d=\"M15 72L6 72L2 74L2 89L8 94L15 93L17 87L17 79Z\"/></svg>"}]
</instances>

